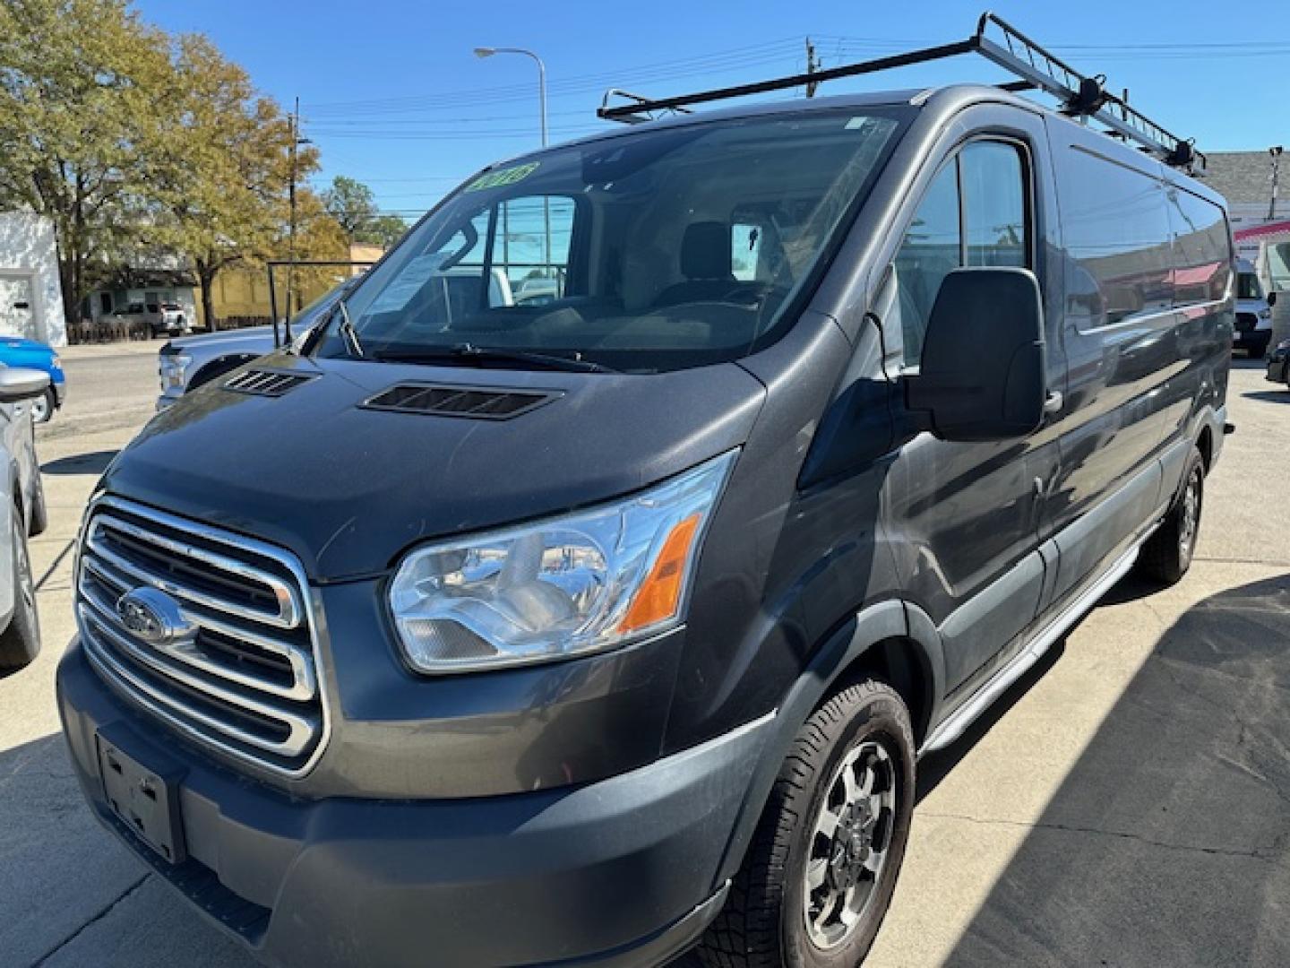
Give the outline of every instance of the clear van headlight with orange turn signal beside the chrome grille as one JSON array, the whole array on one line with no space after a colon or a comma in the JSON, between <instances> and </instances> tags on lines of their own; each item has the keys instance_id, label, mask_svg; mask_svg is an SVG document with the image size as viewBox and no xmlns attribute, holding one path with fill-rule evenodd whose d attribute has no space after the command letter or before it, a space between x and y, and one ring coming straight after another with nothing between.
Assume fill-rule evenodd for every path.
<instances>
[{"instance_id":1,"label":"clear van headlight with orange turn signal beside the chrome grille","mask_svg":"<svg viewBox=\"0 0 1290 968\"><path fill-rule=\"evenodd\" d=\"M412 551L390 587L408 662L421 672L495 669L679 625L734 456L588 511Z\"/></svg>"}]
</instances>

